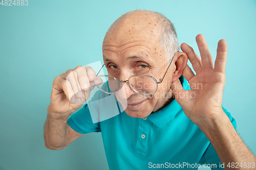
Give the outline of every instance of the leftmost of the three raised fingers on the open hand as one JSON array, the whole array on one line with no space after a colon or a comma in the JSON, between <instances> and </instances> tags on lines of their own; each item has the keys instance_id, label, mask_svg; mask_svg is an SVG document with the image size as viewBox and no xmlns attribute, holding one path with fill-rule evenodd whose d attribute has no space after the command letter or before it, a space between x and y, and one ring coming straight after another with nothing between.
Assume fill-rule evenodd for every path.
<instances>
[{"instance_id":1,"label":"leftmost of the three raised fingers on the open hand","mask_svg":"<svg viewBox=\"0 0 256 170\"><path fill-rule=\"evenodd\" d=\"M182 43L180 45L181 50L187 54L187 57L192 64L194 70L199 73L202 70L202 63L201 63L201 58L196 54L194 49L187 45L186 43Z\"/></svg>"}]
</instances>

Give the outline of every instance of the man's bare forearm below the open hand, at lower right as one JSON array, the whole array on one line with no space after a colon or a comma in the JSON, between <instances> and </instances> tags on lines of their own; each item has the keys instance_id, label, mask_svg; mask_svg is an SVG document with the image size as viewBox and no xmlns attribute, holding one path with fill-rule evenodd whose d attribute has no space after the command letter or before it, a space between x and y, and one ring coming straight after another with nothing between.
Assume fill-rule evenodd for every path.
<instances>
[{"instance_id":1,"label":"man's bare forearm below the open hand, at lower right","mask_svg":"<svg viewBox=\"0 0 256 170\"><path fill-rule=\"evenodd\" d=\"M236 165L241 165L237 166L241 169L245 169L244 166L245 164L247 164L246 168L250 169L248 167L248 163L255 164L256 158L246 147L236 130L233 128L226 114L223 112L222 115L224 116L222 116L221 118L216 118L215 120L207 120L206 122L203 122L199 126L199 128L211 142L212 146L219 155L221 162L225 163L225 169L232 169L232 163ZM227 166L228 163L230 165L229 167ZM251 169L256 168L252 168L251 166Z\"/></svg>"}]
</instances>

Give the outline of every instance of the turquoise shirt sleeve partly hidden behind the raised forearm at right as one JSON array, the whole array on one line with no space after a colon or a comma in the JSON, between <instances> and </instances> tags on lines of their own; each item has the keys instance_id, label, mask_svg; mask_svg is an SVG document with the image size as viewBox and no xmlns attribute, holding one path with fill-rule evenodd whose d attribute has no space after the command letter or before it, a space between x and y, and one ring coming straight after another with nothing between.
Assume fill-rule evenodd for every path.
<instances>
[{"instance_id":1,"label":"turquoise shirt sleeve partly hidden behind the raised forearm at right","mask_svg":"<svg viewBox=\"0 0 256 170\"><path fill-rule=\"evenodd\" d=\"M227 111L227 109L223 108L223 111L226 113L226 115L228 116L231 124L233 125L234 129L237 130L237 123L236 123L236 119L234 119L231 114ZM210 164L212 167L211 169L224 169L221 168L221 160L217 154L217 152L215 151L214 147L212 147L211 143L208 145L207 149L205 150L201 160L199 161L199 164L203 165L203 164Z\"/></svg>"}]
</instances>

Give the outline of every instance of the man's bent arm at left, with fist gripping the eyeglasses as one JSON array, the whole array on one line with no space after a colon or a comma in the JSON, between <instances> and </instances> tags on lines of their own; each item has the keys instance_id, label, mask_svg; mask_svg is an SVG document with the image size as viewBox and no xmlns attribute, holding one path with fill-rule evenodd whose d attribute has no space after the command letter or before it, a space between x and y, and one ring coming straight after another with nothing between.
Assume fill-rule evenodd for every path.
<instances>
[{"instance_id":1,"label":"man's bent arm at left, with fist gripping the eyeglasses","mask_svg":"<svg viewBox=\"0 0 256 170\"><path fill-rule=\"evenodd\" d=\"M77 66L54 79L44 126L46 148L60 150L82 135L70 128L67 121L89 98L95 86L95 77L96 73L91 67Z\"/></svg>"}]
</instances>

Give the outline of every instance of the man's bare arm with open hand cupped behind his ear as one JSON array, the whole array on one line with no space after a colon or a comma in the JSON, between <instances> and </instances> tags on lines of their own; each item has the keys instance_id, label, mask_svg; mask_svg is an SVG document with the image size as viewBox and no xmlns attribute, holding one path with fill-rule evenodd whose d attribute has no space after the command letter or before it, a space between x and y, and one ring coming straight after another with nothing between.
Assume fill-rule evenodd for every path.
<instances>
[{"instance_id":1,"label":"man's bare arm with open hand cupped behind his ear","mask_svg":"<svg viewBox=\"0 0 256 170\"><path fill-rule=\"evenodd\" d=\"M192 85L191 90L184 90L179 79L173 82L172 89L176 101L181 105L186 116L209 139L225 168L234 168L231 166L232 163L239 165L243 163L243 166L236 169L244 169L245 163L247 165L249 162L255 163L256 158L241 140L222 109L227 57L226 41L223 39L219 41L214 63L203 35L199 34L196 40L201 58L192 47L186 43L181 44L181 49L187 54L196 75L188 65L185 67L183 76ZM181 98L181 96L190 96L190 98ZM253 166L246 168L253 169Z\"/></svg>"}]
</instances>

